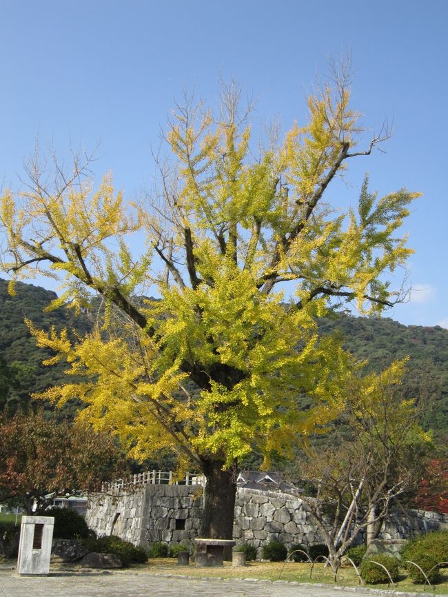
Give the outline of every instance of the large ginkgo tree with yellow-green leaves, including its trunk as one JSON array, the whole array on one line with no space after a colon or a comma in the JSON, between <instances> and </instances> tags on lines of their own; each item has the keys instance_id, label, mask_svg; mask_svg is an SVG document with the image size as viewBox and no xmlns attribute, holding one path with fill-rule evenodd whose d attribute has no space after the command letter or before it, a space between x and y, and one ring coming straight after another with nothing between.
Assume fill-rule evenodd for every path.
<instances>
[{"instance_id":1,"label":"large ginkgo tree with yellow-green leaves, including its trunk","mask_svg":"<svg viewBox=\"0 0 448 597\"><path fill-rule=\"evenodd\" d=\"M269 463L343 406L352 363L318 337L316 318L336 303L379 313L400 298L387 276L410 253L397 230L417 194L378 197L365 181L358 205L335 212L330 183L380 139L357 147L344 81L308 108L303 127L254 148L230 85L217 115L177 105L147 199L125 201L110 174L95 187L79 159L70 172L56 162L53 176L34 161L28 185L1 199L12 279L63 278L55 305L104 298L101 325L75 342L30 323L76 375L45 397L81 398L79 416L136 458L172 449L201 469L203 536L232 536L238 460L256 451Z\"/></svg>"}]
</instances>

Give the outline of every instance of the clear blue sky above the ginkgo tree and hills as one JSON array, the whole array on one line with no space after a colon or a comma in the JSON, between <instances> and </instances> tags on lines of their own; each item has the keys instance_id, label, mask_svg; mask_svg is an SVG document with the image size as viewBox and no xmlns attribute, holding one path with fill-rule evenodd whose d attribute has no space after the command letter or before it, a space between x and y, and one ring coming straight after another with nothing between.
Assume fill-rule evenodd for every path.
<instances>
[{"instance_id":1,"label":"clear blue sky above the ginkgo tree and hills","mask_svg":"<svg viewBox=\"0 0 448 597\"><path fill-rule=\"evenodd\" d=\"M255 128L277 115L286 130L305 120L316 75L350 50L366 147L385 119L394 134L385 154L352 160L332 200L355 201L365 172L380 193L424 194L403 230L416 290L385 316L448 327L448 2L0 0L0 9L0 181L12 188L39 135L61 154L69 141L100 143L96 176L112 170L135 196L185 86L216 103L220 77L235 77L258 97Z\"/></svg>"}]
</instances>

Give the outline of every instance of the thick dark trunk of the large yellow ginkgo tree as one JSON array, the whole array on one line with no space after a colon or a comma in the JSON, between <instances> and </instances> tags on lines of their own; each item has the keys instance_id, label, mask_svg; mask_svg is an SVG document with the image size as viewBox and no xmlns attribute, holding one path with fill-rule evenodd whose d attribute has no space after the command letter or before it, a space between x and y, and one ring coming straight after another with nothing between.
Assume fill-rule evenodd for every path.
<instances>
[{"instance_id":1,"label":"thick dark trunk of the large yellow ginkgo tree","mask_svg":"<svg viewBox=\"0 0 448 597\"><path fill-rule=\"evenodd\" d=\"M236 498L236 471L223 470L222 461L203 461L207 479L201 537L232 539Z\"/></svg>"}]
</instances>

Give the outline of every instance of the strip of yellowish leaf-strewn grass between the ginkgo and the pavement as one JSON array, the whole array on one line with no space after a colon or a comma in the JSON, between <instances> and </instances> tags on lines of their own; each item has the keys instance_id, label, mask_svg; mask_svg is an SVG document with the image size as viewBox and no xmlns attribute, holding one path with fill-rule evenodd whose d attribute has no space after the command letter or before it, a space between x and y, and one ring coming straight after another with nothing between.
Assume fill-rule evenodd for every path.
<instances>
[{"instance_id":1,"label":"strip of yellowish leaf-strewn grass between the ginkgo and the pavement","mask_svg":"<svg viewBox=\"0 0 448 597\"><path fill-rule=\"evenodd\" d=\"M188 576L216 577L216 578L265 578L267 580L288 580L299 583L326 583L333 585L334 574L331 569L325 568L323 564L316 564L313 569L312 578L309 578L310 565L307 563L285 563L283 562L249 562L245 567L232 567L232 563L225 562L223 567L196 568L194 564L180 567L170 558L151 559L148 564L136 566L141 571L149 574L187 574ZM343 567L338 571L336 585L357 587L358 577L352 567ZM376 589L387 589L387 585L374 585ZM392 589L392 587L389 587ZM396 583L397 591L409 591L414 593L430 592L428 586L414 585L407 580L406 572L403 570L400 580ZM448 570L442 569L442 583L436 585L437 594L448 594Z\"/></svg>"}]
</instances>

